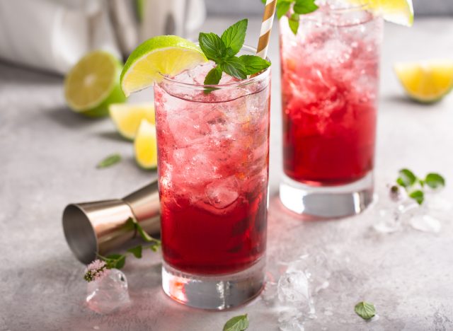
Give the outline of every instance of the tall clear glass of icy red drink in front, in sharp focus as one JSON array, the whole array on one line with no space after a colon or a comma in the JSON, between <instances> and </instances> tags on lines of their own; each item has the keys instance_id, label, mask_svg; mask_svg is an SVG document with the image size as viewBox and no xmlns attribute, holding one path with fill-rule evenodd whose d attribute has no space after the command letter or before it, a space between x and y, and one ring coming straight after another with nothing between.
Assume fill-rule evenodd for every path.
<instances>
[{"instance_id":1,"label":"tall clear glass of icy red drink in front, in sharp focus","mask_svg":"<svg viewBox=\"0 0 453 331\"><path fill-rule=\"evenodd\" d=\"M162 77L154 88L162 286L188 306L224 309L263 287L270 69L203 86L213 66Z\"/></svg>"}]
</instances>

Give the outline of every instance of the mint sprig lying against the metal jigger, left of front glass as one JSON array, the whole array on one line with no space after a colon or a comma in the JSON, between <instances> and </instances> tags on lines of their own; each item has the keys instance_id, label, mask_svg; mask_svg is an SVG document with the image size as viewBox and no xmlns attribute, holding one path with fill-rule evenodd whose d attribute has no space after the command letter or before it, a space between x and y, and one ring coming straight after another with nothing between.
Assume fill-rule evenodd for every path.
<instances>
[{"instance_id":1,"label":"mint sprig lying against the metal jigger, left of front glass","mask_svg":"<svg viewBox=\"0 0 453 331\"><path fill-rule=\"evenodd\" d=\"M143 250L149 249L156 252L161 245L161 240L149 236L142 226L140 226L137 221L134 221L134 219L127 219L126 227L132 231L136 231L136 233L138 233L144 241L150 243L150 245L137 245L128 249L125 254L110 254L107 256L98 255L99 259L105 262L107 269L122 269L122 267L125 266L126 257L128 255L132 254L137 259L141 259Z\"/></svg>"}]
</instances>

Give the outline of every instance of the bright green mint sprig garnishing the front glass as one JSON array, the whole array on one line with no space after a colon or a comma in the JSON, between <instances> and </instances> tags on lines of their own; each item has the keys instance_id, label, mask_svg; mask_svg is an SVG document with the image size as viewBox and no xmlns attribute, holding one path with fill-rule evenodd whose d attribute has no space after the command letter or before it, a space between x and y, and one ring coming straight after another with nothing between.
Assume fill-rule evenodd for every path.
<instances>
[{"instance_id":1,"label":"bright green mint sprig garnishing the front glass","mask_svg":"<svg viewBox=\"0 0 453 331\"><path fill-rule=\"evenodd\" d=\"M215 33L200 33L198 42L207 59L217 65L206 75L205 85L217 85L226 73L237 79L246 79L248 75L258 72L270 66L270 62L256 55L243 55L237 57L246 39L248 20L243 19L227 28L222 36ZM207 92L212 89L207 90Z\"/></svg>"}]
</instances>

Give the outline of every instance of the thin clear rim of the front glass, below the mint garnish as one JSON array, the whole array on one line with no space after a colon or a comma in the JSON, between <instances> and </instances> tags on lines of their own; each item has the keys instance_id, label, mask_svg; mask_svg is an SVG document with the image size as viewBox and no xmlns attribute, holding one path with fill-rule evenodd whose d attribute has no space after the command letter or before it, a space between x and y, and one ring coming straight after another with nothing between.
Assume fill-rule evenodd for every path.
<instances>
[{"instance_id":1,"label":"thin clear rim of the front glass, below the mint garnish","mask_svg":"<svg viewBox=\"0 0 453 331\"><path fill-rule=\"evenodd\" d=\"M196 45L198 45L198 42L195 42ZM243 45L241 47L241 50L247 50L249 52L253 52L253 54L256 54L256 47L251 47L249 45ZM270 62L269 57L266 57L266 60ZM240 88L242 86L248 86L252 83L257 83L260 81L263 81L269 76L270 73L270 67L272 66L272 62L270 62L271 65L266 68L264 71L261 71L260 74L256 76L251 76L247 79L243 79L241 81L234 81L231 83L225 83L225 84L218 84L218 85L204 85L204 84L198 84L198 83L185 83L182 81L178 81L176 79L172 79L169 76L166 76L164 74L161 74L160 72L158 73L159 76L161 76L161 81L159 81L158 85L164 82L171 83L172 85L178 85L178 86L184 86L185 88L193 88L193 89L201 89L205 90L206 88L215 88L216 90L222 90L226 88Z\"/></svg>"}]
</instances>

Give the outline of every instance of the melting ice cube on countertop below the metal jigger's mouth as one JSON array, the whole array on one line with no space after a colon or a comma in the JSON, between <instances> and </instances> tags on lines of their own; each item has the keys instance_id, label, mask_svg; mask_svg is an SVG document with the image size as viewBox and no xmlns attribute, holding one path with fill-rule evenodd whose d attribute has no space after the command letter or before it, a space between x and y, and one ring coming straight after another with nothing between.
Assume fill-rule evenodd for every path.
<instances>
[{"instance_id":1,"label":"melting ice cube on countertop below the metal jigger's mouth","mask_svg":"<svg viewBox=\"0 0 453 331\"><path fill-rule=\"evenodd\" d=\"M109 314L129 305L127 279L118 269L108 269L101 279L88 282L86 303L96 313Z\"/></svg>"}]
</instances>

